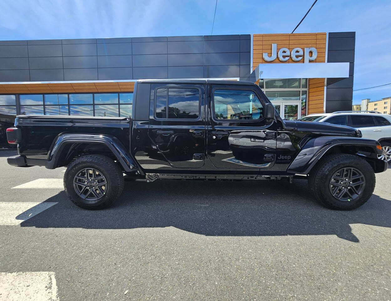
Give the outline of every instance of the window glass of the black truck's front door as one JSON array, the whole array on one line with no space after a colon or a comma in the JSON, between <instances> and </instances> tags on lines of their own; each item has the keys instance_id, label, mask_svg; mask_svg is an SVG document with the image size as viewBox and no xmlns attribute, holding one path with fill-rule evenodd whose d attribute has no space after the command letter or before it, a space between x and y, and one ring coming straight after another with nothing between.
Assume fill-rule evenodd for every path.
<instances>
[{"instance_id":1,"label":"window glass of the black truck's front door","mask_svg":"<svg viewBox=\"0 0 391 301\"><path fill-rule=\"evenodd\" d=\"M260 119L263 106L254 92L249 90L215 90L213 105L216 119Z\"/></svg>"}]
</instances>

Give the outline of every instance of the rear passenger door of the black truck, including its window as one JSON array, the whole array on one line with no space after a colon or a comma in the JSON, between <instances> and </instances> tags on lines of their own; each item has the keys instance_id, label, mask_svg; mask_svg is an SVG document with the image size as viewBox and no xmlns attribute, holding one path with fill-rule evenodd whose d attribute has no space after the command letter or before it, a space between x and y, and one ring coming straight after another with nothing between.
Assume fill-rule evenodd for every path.
<instances>
[{"instance_id":1,"label":"rear passenger door of the black truck, including its window","mask_svg":"<svg viewBox=\"0 0 391 301\"><path fill-rule=\"evenodd\" d=\"M204 165L204 103L205 85L151 85L148 133L152 148L175 168Z\"/></svg>"}]
</instances>

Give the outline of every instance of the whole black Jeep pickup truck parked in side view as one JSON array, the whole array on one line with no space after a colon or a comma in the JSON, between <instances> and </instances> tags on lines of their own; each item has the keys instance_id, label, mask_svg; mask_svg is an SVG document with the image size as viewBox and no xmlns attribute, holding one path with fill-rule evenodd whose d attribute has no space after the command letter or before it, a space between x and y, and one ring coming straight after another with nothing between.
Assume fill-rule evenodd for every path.
<instances>
[{"instance_id":1,"label":"whole black Jeep pickup truck parked in side view","mask_svg":"<svg viewBox=\"0 0 391 301\"><path fill-rule=\"evenodd\" d=\"M129 117L18 116L13 166L66 166L64 187L85 209L111 205L125 180L308 179L331 209L364 204L375 188L375 140L348 126L283 120L251 82L139 80Z\"/></svg>"}]
</instances>

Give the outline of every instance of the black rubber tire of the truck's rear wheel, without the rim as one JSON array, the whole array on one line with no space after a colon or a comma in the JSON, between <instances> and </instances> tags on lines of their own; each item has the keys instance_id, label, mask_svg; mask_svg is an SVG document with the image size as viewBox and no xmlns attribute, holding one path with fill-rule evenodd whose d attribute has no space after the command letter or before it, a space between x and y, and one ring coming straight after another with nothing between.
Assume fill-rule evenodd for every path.
<instances>
[{"instance_id":1,"label":"black rubber tire of the truck's rear wheel, without the rim","mask_svg":"<svg viewBox=\"0 0 391 301\"><path fill-rule=\"evenodd\" d=\"M106 178L107 191L104 196L94 202L86 202L75 191L74 177L83 168L98 169ZM120 166L103 155L88 155L74 160L66 169L64 189L69 199L83 209L103 209L112 205L124 189L124 177Z\"/></svg>"}]
</instances>

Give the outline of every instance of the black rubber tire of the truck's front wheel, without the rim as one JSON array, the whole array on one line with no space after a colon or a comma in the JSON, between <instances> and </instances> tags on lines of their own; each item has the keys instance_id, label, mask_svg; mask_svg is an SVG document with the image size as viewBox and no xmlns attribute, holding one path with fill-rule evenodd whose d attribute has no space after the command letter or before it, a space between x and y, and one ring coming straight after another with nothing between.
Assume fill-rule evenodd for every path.
<instances>
[{"instance_id":1,"label":"black rubber tire of the truck's front wheel, without the rim","mask_svg":"<svg viewBox=\"0 0 391 301\"><path fill-rule=\"evenodd\" d=\"M338 200L330 192L330 180L341 168L353 167L361 171L365 178L365 186L361 195L350 202ZM375 173L365 160L348 154L327 155L310 171L308 185L316 199L325 207L334 210L352 210L364 204L375 189Z\"/></svg>"}]
</instances>

